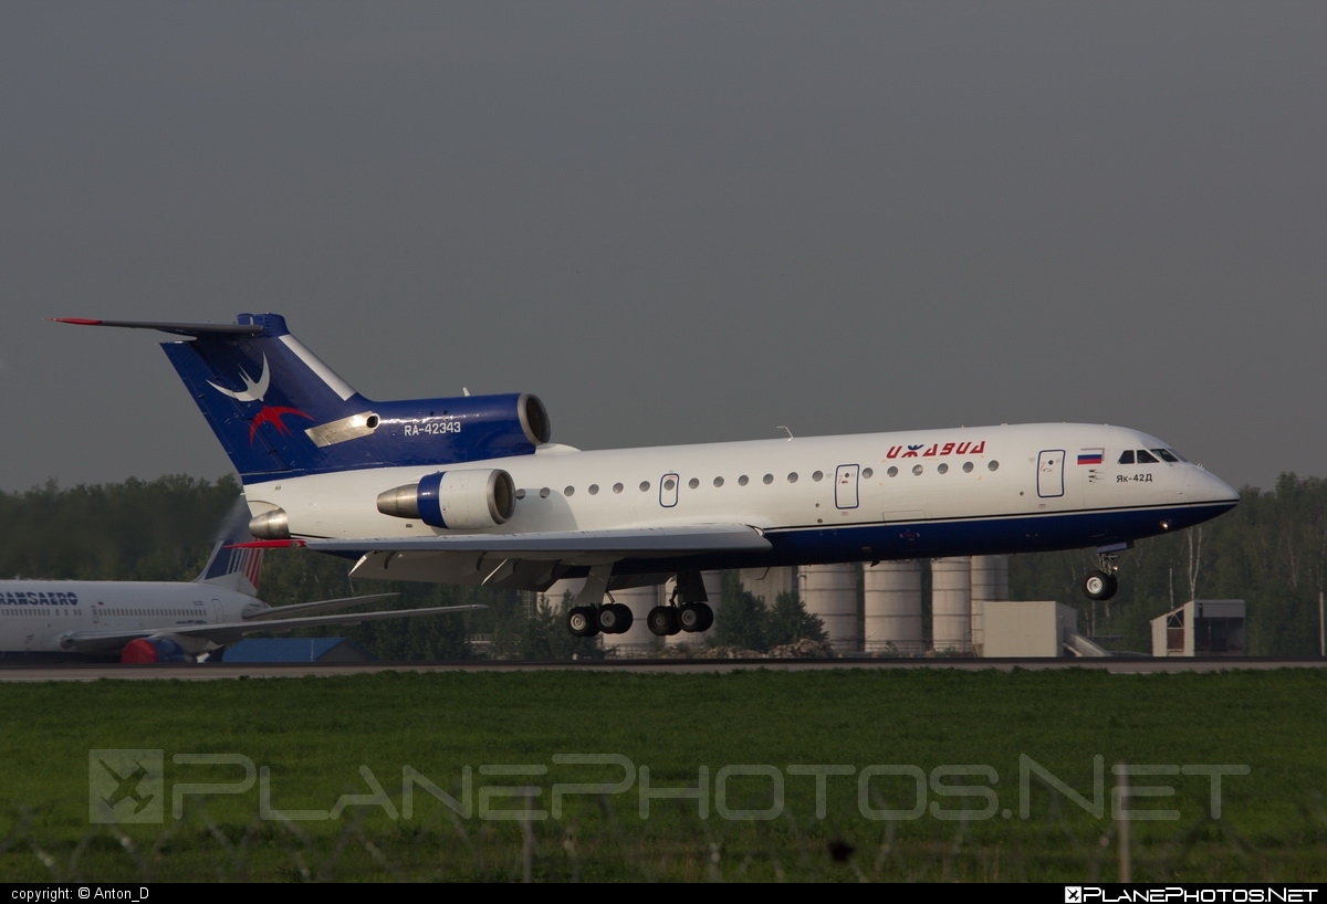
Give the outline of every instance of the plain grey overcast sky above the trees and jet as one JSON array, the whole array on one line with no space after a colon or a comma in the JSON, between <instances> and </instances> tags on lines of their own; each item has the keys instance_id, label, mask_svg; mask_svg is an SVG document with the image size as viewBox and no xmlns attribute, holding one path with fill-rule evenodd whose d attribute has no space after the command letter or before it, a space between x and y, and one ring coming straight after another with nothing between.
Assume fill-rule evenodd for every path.
<instances>
[{"instance_id":1,"label":"plain grey overcast sky above the trees and jet","mask_svg":"<svg viewBox=\"0 0 1327 904\"><path fill-rule=\"evenodd\" d=\"M1327 4L5 3L0 489L230 464L167 337L581 448L1001 422L1327 475Z\"/></svg>"}]
</instances>

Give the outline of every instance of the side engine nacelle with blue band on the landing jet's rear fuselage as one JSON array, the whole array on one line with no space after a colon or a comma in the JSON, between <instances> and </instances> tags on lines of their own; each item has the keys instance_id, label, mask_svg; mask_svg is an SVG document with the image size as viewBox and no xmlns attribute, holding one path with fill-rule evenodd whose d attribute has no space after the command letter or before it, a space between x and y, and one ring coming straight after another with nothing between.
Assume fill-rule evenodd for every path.
<instances>
[{"instance_id":1,"label":"side engine nacelle with blue band on the landing jet's rear fuselage","mask_svg":"<svg viewBox=\"0 0 1327 904\"><path fill-rule=\"evenodd\" d=\"M439 471L418 484L378 493L378 512L418 518L433 528L496 528L516 506L516 485L506 471Z\"/></svg>"}]
</instances>

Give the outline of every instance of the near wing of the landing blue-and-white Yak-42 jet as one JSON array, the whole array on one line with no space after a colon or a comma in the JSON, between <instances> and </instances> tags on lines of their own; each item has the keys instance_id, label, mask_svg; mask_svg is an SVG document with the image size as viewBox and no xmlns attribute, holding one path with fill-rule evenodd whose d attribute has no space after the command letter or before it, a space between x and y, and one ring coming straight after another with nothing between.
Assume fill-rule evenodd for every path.
<instances>
[{"instance_id":1,"label":"near wing of the landing blue-and-white Yak-42 jet","mask_svg":"<svg viewBox=\"0 0 1327 904\"><path fill-rule=\"evenodd\" d=\"M687 553L764 553L770 541L744 524L670 525L617 530L556 530L523 534L442 534L433 537L300 541L320 553L492 553L522 559L563 559L587 554L617 558Z\"/></svg>"}]
</instances>

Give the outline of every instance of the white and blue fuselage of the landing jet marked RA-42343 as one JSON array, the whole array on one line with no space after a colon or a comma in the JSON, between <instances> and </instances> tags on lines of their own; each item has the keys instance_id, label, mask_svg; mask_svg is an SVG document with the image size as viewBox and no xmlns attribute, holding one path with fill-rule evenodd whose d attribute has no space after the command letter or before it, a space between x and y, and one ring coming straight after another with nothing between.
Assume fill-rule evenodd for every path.
<instances>
[{"instance_id":1,"label":"white and blue fuselage of the landing jet marked RA-42343","mask_svg":"<svg viewBox=\"0 0 1327 904\"><path fill-rule=\"evenodd\" d=\"M1152 452L1156 461L1120 463L1123 452L1158 449L1173 456L1147 433L1092 424L601 452L544 447L487 461L249 482L245 496L253 514L283 509L297 538L447 536L458 532L380 513L378 493L437 471L502 469L516 488L514 513L479 533L740 524L775 543L764 563L792 565L1105 545L1184 528L1237 501L1223 481L1180 459ZM476 571L442 566L449 555L434 554L435 577L417 579L463 581Z\"/></svg>"}]
</instances>

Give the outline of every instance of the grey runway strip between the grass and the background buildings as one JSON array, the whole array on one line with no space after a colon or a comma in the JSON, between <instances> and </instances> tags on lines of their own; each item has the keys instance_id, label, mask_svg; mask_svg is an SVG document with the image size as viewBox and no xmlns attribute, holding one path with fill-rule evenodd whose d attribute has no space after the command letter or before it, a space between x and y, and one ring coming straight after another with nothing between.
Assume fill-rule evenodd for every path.
<instances>
[{"instance_id":1,"label":"grey runway strip between the grass and the background buildings","mask_svg":"<svg viewBox=\"0 0 1327 904\"><path fill-rule=\"evenodd\" d=\"M735 672L764 668L779 672L809 669L900 669L953 668L965 672L1015 668L1042 671L1052 668L1101 669L1115 675L1151 675L1154 672L1223 672L1271 668L1324 668L1324 659L626 659L572 663L198 663L171 665L123 665L118 663L60 665L0 665L0 683L5 681L98 681L101 679L151 681L216 681L256 677L328 677L333 675L368 675L372 672L537 672L601 671L654 672L658 675L695 672Z\"/></svg>"}]
</instances>

